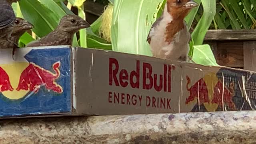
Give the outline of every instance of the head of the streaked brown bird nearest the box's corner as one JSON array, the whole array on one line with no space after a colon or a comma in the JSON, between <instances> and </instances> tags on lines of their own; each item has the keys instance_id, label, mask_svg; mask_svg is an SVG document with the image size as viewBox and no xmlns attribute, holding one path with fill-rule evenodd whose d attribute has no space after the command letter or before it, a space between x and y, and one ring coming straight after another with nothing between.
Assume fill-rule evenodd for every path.
<instances>
[{"instance_id":1,"label":"head of the streaked brown bird nearest the box's corner","mask_svg":"<svg viewBox=\"0 0 256 144\"><path fill-rule=\"evenodd\" d=\"M63 16L60 20L60 24L58 25L59 30L70 33L76 33L80 29L88 27L90 27L90 24L86 22L86 20L73 14L67 14L66 16Z\"/></svg>"}]
</instances>

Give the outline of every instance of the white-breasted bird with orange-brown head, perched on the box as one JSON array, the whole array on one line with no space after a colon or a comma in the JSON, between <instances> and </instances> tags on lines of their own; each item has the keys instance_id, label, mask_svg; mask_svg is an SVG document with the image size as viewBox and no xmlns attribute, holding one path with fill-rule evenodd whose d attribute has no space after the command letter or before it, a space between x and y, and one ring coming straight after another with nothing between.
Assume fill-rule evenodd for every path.
<instances>
[{"instance_id":1,"label":"white-breasted bird with orange-brown head, perched on the box","mask_svg":"<svg viewBox=\"0 0 256 144\"><path fill-rule=\"evenodd\" d=\"M193 0L167 0L162 16L152 25L147 42L154 57L187 61L190 33L184 18L198 6Z\"/></svg>"}]
</instances>

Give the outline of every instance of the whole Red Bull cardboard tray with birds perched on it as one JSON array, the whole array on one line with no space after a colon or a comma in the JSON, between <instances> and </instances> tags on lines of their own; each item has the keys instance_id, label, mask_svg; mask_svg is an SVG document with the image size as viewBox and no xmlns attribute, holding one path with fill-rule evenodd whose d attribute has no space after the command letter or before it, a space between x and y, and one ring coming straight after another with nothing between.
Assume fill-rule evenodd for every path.
<instances>
[{"instance_id":1,"label":"whole Red Bull cardboard tray with birds perched on it","mask_svg":"<svg viewBox=\"0 0 256 144\"><path fill-rule=\"evenodd\" d=\"M0 118L256 108L250 71L69 46L0 56Z\"/></svg>"}]
</instances>

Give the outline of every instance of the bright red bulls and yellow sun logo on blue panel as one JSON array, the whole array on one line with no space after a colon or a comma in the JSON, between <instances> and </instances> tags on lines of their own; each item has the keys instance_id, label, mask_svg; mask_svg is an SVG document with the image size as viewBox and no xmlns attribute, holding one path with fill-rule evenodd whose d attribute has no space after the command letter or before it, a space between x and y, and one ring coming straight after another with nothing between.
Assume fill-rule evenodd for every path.
<instances>
[{"instance_id":1,"label":"bright red bulls and yellow sun logo on blue panel","mask_svg":"<svg viewBox=\"0 0 256 144\"><path fill-rule=\"evenodd\" d=\"M54 72L32 62L1 64L0 92L12 100L22 98L28 92L37 93L42 86L52 92L62 93L62 86L55 82L60 76L59 68L59 61L52 65Z\"/></svg>"}]
</instances>

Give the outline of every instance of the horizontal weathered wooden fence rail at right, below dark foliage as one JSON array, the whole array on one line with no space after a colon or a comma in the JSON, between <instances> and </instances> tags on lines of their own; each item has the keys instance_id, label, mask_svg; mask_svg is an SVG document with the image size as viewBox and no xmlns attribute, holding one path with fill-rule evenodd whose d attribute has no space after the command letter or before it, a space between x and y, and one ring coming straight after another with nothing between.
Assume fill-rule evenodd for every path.
<instances>
[{"instance_id":1,"label":"horizontal weathered wooden fence rail at right, below dark foliage","mask_svg":"<svg viewBox=\"0 0 256 144\"><path fill-rule=\"evenodd\" d=\"M204 40L256 40L256 30L208 30Z\"/></svg>"}]
</instances>

